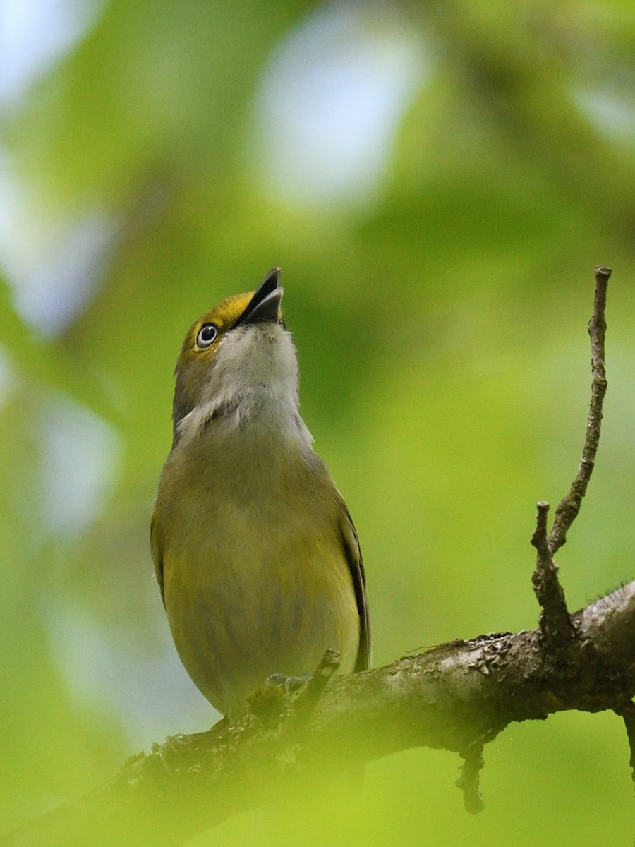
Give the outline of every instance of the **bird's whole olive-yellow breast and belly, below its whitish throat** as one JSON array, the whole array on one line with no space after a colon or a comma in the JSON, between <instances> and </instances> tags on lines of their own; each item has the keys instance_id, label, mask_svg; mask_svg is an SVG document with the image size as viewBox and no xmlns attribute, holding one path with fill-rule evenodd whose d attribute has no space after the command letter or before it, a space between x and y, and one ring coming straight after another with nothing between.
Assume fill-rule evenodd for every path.
<instances>
[{"instance_id":1,"label":"bird's whole olive-yellow breast and belly, below its whitish throat","mask_svg":"<svg viewBox=\"0 0 635 847\"><path fill-rule=\"evenodd\" d=\"M270 674L312 673L329 647L350 672L359 616L323 463L301 440L214 435L168 457L157 518L179 656L237 717Z\"/></svg>"}]
</instances>

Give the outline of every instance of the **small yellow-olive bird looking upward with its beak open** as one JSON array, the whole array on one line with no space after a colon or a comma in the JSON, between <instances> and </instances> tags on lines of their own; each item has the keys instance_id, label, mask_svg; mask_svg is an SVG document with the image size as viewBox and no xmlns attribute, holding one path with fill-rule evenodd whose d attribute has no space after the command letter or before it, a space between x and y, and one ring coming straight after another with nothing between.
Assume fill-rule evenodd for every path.
<instances>
[{"instance_id":1,"label":"small yellow-olive bird looking upward with its beak open","mask_svg":"<svg viewBox=\"0 0 635 847\"><path fill-rule=\"evenodd\" d=\"M268 678L303 678L325 650L369 667L359 541L299 412L280 268L185 335L173 442L152 513L154 570L174 645L230 723Z\"/></svg>"}]
</instances>

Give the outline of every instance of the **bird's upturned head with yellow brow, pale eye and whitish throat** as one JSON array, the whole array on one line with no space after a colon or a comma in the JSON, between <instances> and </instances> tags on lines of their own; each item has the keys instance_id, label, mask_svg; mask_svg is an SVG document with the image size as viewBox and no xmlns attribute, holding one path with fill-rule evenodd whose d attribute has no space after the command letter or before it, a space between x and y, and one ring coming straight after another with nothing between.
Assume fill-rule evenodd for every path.
<instances>
[{"instance_id":1,"label":"bird's upturned head with yellow brow, pale eye and whitish throat","mask_svg":"<svg viewBox=\"0 0 635 847\"><path fill-rule=\"evenodd\" d=\"M285 400L297 409L297 361L279 281L273 268L257 291L228 297L191 325L174 369L175 443L192 412L209 419Z\"/></svg>"}]
</instances>

